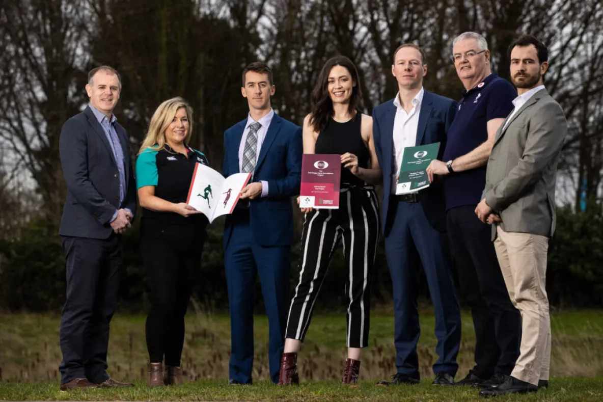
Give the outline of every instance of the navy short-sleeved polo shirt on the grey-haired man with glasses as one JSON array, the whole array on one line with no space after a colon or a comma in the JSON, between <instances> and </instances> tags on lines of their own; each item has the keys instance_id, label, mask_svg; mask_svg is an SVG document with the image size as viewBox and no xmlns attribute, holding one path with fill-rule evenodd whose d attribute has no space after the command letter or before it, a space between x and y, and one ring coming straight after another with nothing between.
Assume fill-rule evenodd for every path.
<instances>
[{"instance_id":1,"label":"navy short-sleeved polo shirt on the grey-haired man with glasses","mask_svg":"<svg viewBox=\"0 0 603 402\"><path fill-rule=\"evenodd\" d=\"M497 74L463 91L456 116L448 130L443 161L463 156L488 139L488 121L505 118L513 110L517 92L513 85ZM444 176L446 210L455 206L476 206L486 183L486 165Z\"/></svg>"}]
</instances>

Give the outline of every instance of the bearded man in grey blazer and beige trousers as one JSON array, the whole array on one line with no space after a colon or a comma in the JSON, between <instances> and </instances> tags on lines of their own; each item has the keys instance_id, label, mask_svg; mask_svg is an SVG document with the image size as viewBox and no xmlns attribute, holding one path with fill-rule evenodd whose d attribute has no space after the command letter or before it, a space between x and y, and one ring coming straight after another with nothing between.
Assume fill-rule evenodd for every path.
<instances>
[{"instance_id":1,"label":"bearded man in grey blazer and beige trousers","mask_svg":"<svg viewBox=\"0 0 603 402\"><path fill-rule=\"evenodd\" d=\"M555 231L555 175L567 122L543 85L546 46L534 36L521 36L511 43L510 60L519 96L496 134L475 212L482 222L494 223L500 269L522 314L522 341L511 375L496 388L482 390L484 397L547 387L551 360L546 254Z\"/></svg>"}]
</instances>

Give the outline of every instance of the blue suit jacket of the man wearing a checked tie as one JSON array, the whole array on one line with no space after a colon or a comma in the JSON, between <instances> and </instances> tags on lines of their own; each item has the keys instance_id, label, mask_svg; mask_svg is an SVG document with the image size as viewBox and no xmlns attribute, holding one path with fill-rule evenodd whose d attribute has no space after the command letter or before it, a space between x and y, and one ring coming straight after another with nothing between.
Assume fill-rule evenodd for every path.
<instances>
[{"instance_id":1,"label":"blue suit jacket of the man wearing a checked tie","mask_svg":"<svg viewBox=\"0 0 603 402\"><path fill-rule=\"evenodd\" d=\"M224 132L225 177L239 173L239 145L245 124L247 119ZM268 182L268 196L250 200L249 206L251 234L261 246L290 246L293 241L291 197L300 192L302 154L301 127L275 114L262 142L252 179ZM236 210L226 217L225 249L237 220Z\"/></svg>"}]
</instances>

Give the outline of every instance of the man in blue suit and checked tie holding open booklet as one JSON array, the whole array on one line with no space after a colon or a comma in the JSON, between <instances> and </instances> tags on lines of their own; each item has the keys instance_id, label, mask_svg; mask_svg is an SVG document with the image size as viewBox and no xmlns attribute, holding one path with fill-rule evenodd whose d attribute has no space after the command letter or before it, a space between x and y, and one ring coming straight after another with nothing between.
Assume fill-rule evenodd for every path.
<instances>
[{"instance_id":1,"label":"man in blue suit and checked tie holding open booklet","mask_svg":"<svg viewBox=\"0 0 603 402\"><path fill-rule=\"evenodd\" d=\"M245 67L242 81L249 115L224 132L224 176L252 173L224 227L232 346L229 383L252 382L256 275L270 325L270 378L277 383L290 301L291 197L300 191L301 128L280 118L270 106L275 88L265 63Z\"/></svg>"}]
</instances>

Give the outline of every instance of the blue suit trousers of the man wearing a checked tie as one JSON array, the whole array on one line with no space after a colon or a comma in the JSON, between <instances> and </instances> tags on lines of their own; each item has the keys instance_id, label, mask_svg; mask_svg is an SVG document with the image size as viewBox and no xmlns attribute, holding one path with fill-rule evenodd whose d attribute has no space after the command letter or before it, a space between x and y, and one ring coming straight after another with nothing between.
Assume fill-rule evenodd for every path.
<instances>
[{"instance_id":1,"label":"blue suit trousers of the man wearing a checked tie","mask_svg":"<svg viewBox=\"0 0 603 402\"><path fill-rule=\"evenodd\" d=\"M235 209L232 233L224 250L224 266L230 310L229 375L242 384L252 382L253 306L256 276L268 316L268 362L270 378L279 382L280 357L285 349L285 325L289 307L291 246L257 244L251 232L249 211Z\"/></svg>"}]
</instances>

